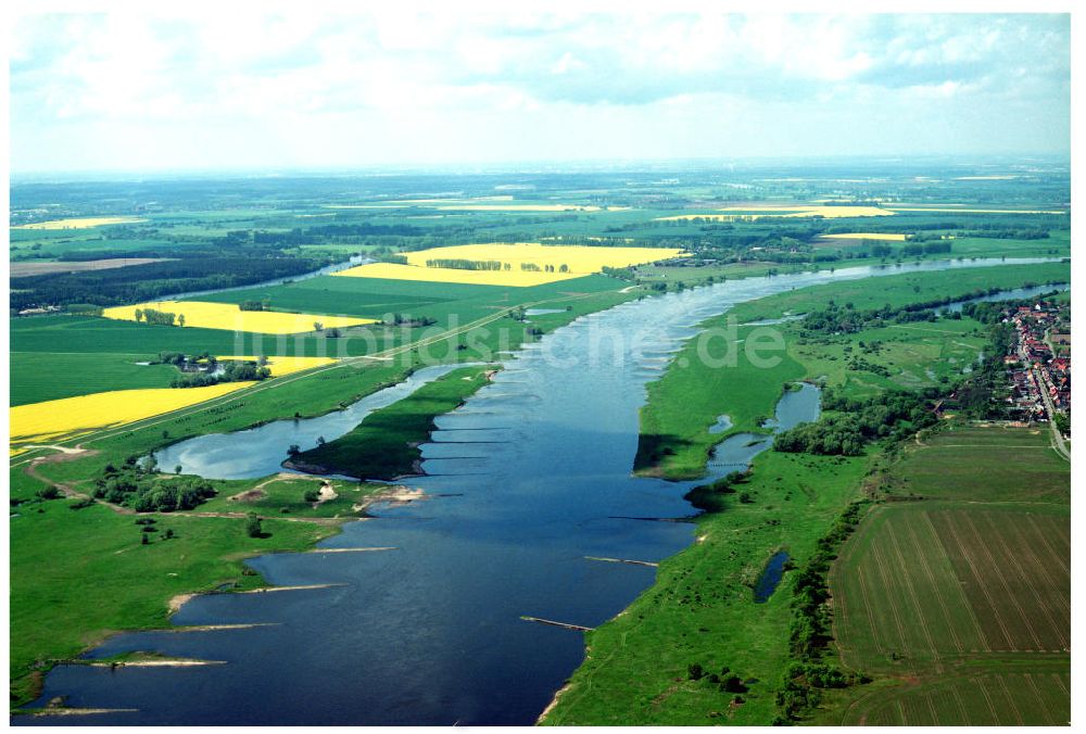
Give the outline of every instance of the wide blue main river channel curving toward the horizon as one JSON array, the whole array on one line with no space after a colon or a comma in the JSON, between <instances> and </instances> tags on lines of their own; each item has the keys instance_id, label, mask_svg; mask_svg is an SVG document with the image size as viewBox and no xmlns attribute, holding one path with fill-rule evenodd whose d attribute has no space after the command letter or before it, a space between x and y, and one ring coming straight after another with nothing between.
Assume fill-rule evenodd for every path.
<instances>
[{"instance_id":1,"label":"wide blue main river channel curving toward the horizon","mask_svg":"<svg viewBox=\"0 0 1086 734\"><path fill-rule=\"evenodd\" d=\"M73 707L138 709L65 724L530 724L584 649L580 633L520 617L601 624L654 571L586 556L657 561L692 541L691 524L652 518L690 516L682 496L693 482L630 469L644 385L696 325L792 288L981 264L752 278L579 318L509 355L491 384L438 419L422 447L428 476L409 482L433 498L378 509L321 543L395 549L255 558L250 565L273 584L337 585L198 597L177 624L269 624L118 635L90 655L157 650L226 665L62 666L35 705L65 696ZM252 433L232 436L244 455ZM710 464L718 477L735 461Z\"/></svg>"}]
</instances>

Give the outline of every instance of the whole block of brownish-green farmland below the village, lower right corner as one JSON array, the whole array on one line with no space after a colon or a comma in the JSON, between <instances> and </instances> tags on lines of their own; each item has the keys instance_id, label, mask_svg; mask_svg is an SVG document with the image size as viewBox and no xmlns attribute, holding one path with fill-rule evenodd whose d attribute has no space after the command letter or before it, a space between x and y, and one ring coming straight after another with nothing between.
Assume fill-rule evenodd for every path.
<instances>
[{"instance_id":1,"label":"whole block of brownish-green farmland below the village, lower right corner","mask_svg":"<svg viewBox=\"0 0 1086 734\"><path fill-rule=\"evenodd\" d=\"M1047 432L946 430L885 481L912 501L871 511L830 577L841 661L876 693L850 691L819 721L1065 723L1070 474Z\"/></svg>"}]
</instances>

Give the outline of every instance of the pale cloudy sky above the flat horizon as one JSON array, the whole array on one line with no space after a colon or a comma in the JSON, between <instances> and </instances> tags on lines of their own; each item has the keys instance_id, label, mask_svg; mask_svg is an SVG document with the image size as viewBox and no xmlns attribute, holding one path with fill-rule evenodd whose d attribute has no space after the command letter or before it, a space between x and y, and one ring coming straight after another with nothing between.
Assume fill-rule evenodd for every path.
<instances>
[{"instance_id":1,"label":"pale cloudy sky above the flat horizon","mask_svg":"<svg viewBox=\"0 0 1086 734\"><path fill-rule=\"evenodd\" d=\"M17 17L11 170L1070 151L1066 14L382 5Z\"/></svg>"}]
</instances>

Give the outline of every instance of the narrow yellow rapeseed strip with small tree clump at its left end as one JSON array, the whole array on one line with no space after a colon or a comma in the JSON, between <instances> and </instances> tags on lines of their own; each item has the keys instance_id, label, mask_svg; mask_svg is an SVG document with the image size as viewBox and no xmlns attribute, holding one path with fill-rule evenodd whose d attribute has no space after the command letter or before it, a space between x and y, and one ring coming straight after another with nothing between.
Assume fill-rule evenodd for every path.
<instances>
[{"instance_id":1,"label":"narrow yellow rapeseed strip with small tree clump at its left end","mask_svg":"<svg viewBox=\"0 0 1086 734\"><path fill-rule=\"evenodd\" d=\"M136 320L136 309L153 308L164 313L185 316L186 327L203 329L228 329L231 331L254 331L257 333L299 333L313 331L314 322L326 329L374 324L371 318L326 316L324 314L281 314L275 311L241 311L233 303L209 303L205 301L154 301L135 306L115 306L102 312L105 318L125 321Z\"/></svg>"}]
</instances>

